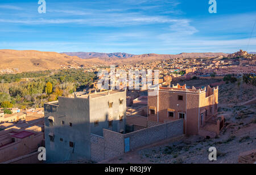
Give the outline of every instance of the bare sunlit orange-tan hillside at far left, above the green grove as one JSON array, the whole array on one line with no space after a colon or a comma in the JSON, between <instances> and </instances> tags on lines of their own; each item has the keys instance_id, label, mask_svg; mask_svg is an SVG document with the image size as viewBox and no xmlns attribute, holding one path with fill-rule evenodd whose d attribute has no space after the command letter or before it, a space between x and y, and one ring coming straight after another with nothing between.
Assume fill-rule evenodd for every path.
<instances>
[{"instance_id":1,"label":"bare sunlit orange-tan hillside at far left, above the green grove","mask_svg":"<svg viewBox=\"0 0 256 175\"><path fill-rule=\"evenodd\" d=\"M60 69L62 66L88 65L88 61L56 52L36 50L0 50L0 69L38 71Z\"/></svg>"}]
</instances>

